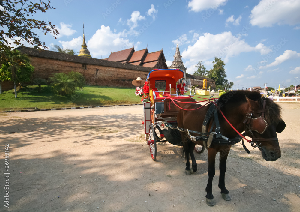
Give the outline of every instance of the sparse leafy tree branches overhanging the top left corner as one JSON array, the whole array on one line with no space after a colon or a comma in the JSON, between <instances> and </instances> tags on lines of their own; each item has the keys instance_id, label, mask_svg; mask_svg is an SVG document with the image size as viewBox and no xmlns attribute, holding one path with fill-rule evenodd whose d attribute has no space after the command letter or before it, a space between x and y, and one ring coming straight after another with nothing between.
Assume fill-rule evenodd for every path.
<instances>
[{"instance_id":1,"label":"sparse leafy tree branches overhanging the top left corner","mask_svg":"<svg viewBox=\"0 0 300 212\"><path fill-rule=\"evenodd\" d=\"M16 45L21 45L21 41L27 41L33 46L45 48L46 43L39 39L38 31L41 30L45 35L51 33L54 37L59 34L51 22L46 23L44 20L29 18L38 11L45 13L46 10L55 9L50 6L50 0L47 3L42 0L38 0L38 2L34 4L30 0L0 1L1 58L6 57L6 50L13 49L10 46L11 41L7 38L10 38ZM37 31L32 31L32 29L37 29ZM3 59L1 59L0 65L2 61Z\"/></svg>"}]
</instances>

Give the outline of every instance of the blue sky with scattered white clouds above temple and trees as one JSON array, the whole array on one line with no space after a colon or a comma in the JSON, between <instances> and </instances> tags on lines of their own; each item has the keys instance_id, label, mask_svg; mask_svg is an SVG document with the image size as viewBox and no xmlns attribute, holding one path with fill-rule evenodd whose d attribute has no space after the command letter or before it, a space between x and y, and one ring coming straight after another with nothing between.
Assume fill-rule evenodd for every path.
<instances>
[{"instance_id":1,"label":"blue sky with scattered white clouds above temple and trees","mask_svg":"<svg viewBox=\"0 0 300 212\"><path fill-rule=\"evenodd\" d=\"M209 70L214 57L225 61L233 89L278 88L300 84L300 1L298 0L152 0L51 1L56 10L34 17L51 21L53 44L79 52L82 22L93 58L131 48L163 49L170 66L179 44L187 73L202 61Z\"/></svg>"}]
</instances>

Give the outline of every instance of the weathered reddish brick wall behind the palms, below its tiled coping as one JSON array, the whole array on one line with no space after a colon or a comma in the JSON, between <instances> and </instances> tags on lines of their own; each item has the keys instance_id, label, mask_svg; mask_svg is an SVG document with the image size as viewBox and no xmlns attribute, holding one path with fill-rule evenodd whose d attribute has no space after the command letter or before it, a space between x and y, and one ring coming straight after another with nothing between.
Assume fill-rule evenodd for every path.
<instances>
[{"instance_id":1,"label":"weathered reddish brick wall behind the palms, below its tiled coping","mask_svg":"<svg viewBox=\"0 0 300 212\"><path fill-rule=\"evenodd\" d=\"M35 67L33 78L48 79L52 73L70 71L80 72L85 76L87 85L133 87L132 80L140 76L146 80L149 72L87 64L86 69L81 63L61 61L49 58L29 56Z\"/></svg>"}]
</instances>

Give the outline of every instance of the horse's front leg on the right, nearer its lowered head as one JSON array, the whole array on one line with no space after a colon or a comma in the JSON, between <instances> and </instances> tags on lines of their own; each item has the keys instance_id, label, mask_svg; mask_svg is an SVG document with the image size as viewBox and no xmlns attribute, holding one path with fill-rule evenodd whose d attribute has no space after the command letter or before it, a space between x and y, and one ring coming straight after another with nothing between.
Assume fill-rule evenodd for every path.
<instances>
[{"instance_id":1,"label":"horse's front leg on the right, nearer its lowered head","mask_svg":"<svg viewBox=\"0 0 300 212\"><path fill-rule=\"evenodd\" d=\"M221 189L221 194L223 199L230 201L229 191L225 187L225 172L226 172L226 160L229 153L231 145L224 146L220 151L220 177L219 177L219 188Z\"/></svg>"}]
</instances>

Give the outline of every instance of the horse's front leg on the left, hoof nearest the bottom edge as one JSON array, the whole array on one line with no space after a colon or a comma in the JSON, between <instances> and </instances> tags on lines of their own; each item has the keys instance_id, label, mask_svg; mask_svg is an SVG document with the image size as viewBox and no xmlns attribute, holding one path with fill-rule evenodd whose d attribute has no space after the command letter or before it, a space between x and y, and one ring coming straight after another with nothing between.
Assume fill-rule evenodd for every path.
<instances>
[{"instance_id":1,"label":"horse's front leg on the left, hoof nearest the bottom edge","mask_svg":"<svg viewBox=\"0 0 300 212\"><path fill-rule=\"evenodd\" d=\"M208 182L205 188L206 194L206 204L209 206L214 206L216 202L214 201L214 195L212 195L212 180L216 169L214 168L214 163L216 160L217 151L214 148L208 148Z\"/></svg>"}]
</instances>

